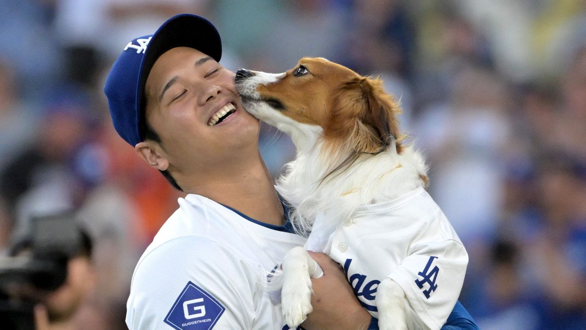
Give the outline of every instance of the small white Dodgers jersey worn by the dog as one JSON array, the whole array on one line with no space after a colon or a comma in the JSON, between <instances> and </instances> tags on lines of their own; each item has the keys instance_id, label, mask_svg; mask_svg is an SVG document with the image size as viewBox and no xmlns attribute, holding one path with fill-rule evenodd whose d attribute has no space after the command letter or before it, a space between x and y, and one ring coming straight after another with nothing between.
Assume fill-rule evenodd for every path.
<instances>
[{"instance_id":1,"label":"small white Dodgers jersey worn by the dog","mask_svg":"<svg viewBox=\"0 0 586 330\"><path fill-rule=\"evenodd\" d=\"M367 311L389 277L406 294L410 328L440 329L454 308L468 254L431 196L418 188L395 200L360 207L352 218L329 224L318 217L305 244L343 265Z\"/></svg>"}]
</instances>

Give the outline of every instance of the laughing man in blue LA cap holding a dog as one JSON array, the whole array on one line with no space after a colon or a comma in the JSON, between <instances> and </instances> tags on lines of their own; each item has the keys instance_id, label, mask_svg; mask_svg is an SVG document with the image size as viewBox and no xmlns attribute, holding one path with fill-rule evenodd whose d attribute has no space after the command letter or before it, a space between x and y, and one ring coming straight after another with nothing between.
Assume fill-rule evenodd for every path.
<instances>
[{"instance_id":1,"label":"laughing man in blue LA cap holding a dog","mask_svg":"<svg viewBox=\"0 0 586 330\"><path fill-rule=\"evenodd\" d=\"M135 268L129 328L288 329L279 265L304 238L292 233L258 151L259 123L218 63L218 32L182 14L124 49L105 85L114 127L188 193ZM304 327L376 326L339 265L313 256L324 275Z\"/></svg>"}]
</instances>

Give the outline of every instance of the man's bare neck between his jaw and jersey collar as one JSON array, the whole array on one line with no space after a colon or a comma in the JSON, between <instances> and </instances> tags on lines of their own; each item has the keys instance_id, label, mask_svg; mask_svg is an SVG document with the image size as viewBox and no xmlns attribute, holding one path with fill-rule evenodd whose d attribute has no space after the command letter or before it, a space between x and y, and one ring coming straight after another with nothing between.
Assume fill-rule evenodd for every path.
<instances>
[{"instance_id":1,"label":"man's bare neck between his jaw and jersey collar","mask_svg":"<svg viewBox=\"0 0 586 330\"><path fill-rule=\"evenodd\" d=\"M258 160L247 166L196 182L193 186L182 186L183 190L210 198L263 223L283 224L285 217L281 201L260 154Z\"/></svg>"}]
</instances>

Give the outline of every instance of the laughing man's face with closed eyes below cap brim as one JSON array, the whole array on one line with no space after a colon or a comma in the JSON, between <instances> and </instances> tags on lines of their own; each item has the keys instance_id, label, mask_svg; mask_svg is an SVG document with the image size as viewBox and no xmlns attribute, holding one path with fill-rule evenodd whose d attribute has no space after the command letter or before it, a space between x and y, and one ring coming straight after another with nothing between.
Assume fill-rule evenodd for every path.
<instances>
[{"instance_id":1,"label":"laughing man's face with closed eyes below cap brim","mask_svg":"<svg viewBox=\"0 0 586 330\"><path fill-rule=\"evenodd\" d=\"M146 117L161 137L158 151L169 170L210 173L239 154L257 153L260 125L243 109L234 73L199 50L163 53L149 73L145 95Z\"/></svg>"}]
</instances>

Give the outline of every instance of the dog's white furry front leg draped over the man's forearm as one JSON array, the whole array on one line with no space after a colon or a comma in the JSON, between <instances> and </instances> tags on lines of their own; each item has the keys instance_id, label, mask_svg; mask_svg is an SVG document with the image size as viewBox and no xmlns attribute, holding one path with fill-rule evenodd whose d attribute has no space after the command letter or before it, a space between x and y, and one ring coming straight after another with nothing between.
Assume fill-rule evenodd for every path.
<instances>
[{"instance_id":1,"label":"dog's white furry front leg draped over the man's forearm","mask_svg":"<svg viewBox=\"0 0 586 330\"><path fill-rule=\"evenodd\" d=\"M319 265L302 247L294 247L283 260L281 308L287 325L300 325L311 311L311 278L323 274Z\"/></svg>"}]
</instances>

